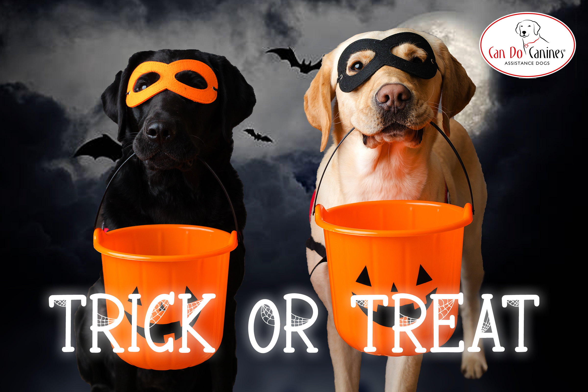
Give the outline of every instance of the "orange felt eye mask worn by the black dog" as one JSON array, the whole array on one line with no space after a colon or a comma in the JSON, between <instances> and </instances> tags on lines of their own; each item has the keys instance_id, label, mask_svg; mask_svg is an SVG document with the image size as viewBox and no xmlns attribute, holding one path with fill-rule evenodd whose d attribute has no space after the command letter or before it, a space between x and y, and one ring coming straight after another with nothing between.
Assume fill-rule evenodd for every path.
<instances>
[{"instance_id":1,"label":"orange felt eye mask worn by the black dog","mask_svg":"<svg viewBox=\"0 0 588 392\"><path fill-rule=\"evenodd\" d=\"M207 87L205 89L196 89L179 82L176 79L176 73L181 71L194 71L198 73L206 81ZM141 75L149 72L158 73L159 80L141 91L133 91L137 79ZM201 61L179 60L169 64L158 61L146 61L139 64L135 68L135 71L131 73L129 85L126 89L126 105L129 108L134 108L166 89L191 99L194 102L211 103L216 99L218 88L219 85L215 73L208 65Z\"/></svg>"}]
</instances>

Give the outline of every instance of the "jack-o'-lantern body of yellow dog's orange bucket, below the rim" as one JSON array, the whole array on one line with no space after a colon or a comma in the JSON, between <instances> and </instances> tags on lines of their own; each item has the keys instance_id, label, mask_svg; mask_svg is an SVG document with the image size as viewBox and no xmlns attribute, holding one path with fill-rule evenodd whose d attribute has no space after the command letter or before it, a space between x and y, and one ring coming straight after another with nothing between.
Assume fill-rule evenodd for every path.
<instances>
[{"instance_id":1,"label":"jack-o'-lantern body of yellow dog's orange bucket, below the rim","mask_svg":"<svg viewBox=\"0 0 588 392\"><path fill-rule=\"evenodd\" d=\"M425 309L420 309L415 301L409 299L400 300L400 325L409 326L415 323L426 311L427 316L420 326L412 330L416 339L427 351L433 347L433 300L430 294L454 294L459 293L459 277L461 267L461 254L449 267L439 263L436 257L429 257L427 250L435 247L443 247L444 233L432 236L419 237L370 237L366 240L369 245L366 254L356 259L352 256L353 246L348 238L339 239L346 234L330 233L329 242L335 240L337 250L330 249L327 257L329 260L329 280L331 284L331 297L333 303L333 316L335 326L340 336L350 346L363 351L366 347L368 334L367 326L367 301L358 301L359 306L351 307L352 295L380 294L388 297L388 306L383 306L382 301L374 301L372 305L373 317L373 347L376 351L371 354L385 356L406 356L417 354L416 346L405 332L395 332L395 301L393 294L406 293L418 297ZM350 237L350 236L346 236ZM386 252L379 250L386 249ZM445 250L439 249L439 254ZM335 253L339 254L336 256ZM342 256L345 255L345 259ZM398 256L400 255L400 257ZM457 255L455 255L457 256ZM333 261L331 261L333 260ZM346 284L343 284L346 282ZM445 309L445 313L439 319L457 317L457 301L455 305ZM442 326L439 329L439 344L444 344L453 334L453 329ZM393 353L394 334L400 333L400 347L402 353Z\"/></svg>"}]
</instances>

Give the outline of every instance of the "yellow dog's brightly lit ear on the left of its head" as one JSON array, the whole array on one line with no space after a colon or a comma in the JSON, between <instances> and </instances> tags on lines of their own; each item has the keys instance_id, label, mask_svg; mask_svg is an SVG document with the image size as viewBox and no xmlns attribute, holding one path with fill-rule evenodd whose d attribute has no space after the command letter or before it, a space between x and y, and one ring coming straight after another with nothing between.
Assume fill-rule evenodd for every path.
<instances>
[{"instance_id":1,"label":"yellow dog's brightly lit ear on the left of its head","mask_svg":"<svg viewBox=\"0 0 588 392\"><path fill-rule=\"evenodd\" d=\"M331 101L335 98L335 89L331 87L333 61L331 53L323 56L319 72L310 83L304 95L304 112L310 125L323 133L320 150L324 150L329 141L331 127Z\"/></svg>"}]
</instances>

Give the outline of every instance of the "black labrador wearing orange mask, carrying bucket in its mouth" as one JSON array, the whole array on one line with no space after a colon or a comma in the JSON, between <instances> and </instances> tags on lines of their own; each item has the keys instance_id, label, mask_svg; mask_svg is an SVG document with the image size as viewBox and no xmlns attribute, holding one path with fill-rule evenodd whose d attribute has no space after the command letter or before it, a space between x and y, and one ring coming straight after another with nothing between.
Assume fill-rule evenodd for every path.
<instances>
[{"instance_id":1,"label":"black labrador wearing orange mask, carrying bucket in its mouth","mask_svg":"<svg viewBox=\"0 0 588 392\"><path fill-rule=\"evenodd\" d=\"M198 103L164 90L141 105L126 105L126 89L133 70L146 61L171 63L193 59L210 66L218 80L217 98ZM204 89L206 80L194 71L182 71L176 79ZM133 87L139 91L155 83L159 75L142 75ZM104 111L118 124L123 158L116 169L135 152L112 181L103 204L103 227L119 229L135 225L178 223L214 227L231 232L235 223L228 200L211 172L215 170L235 207L239 229L245 227L243 184L230 165L233 128L248 118L255 105L253 88L239 70L218 55L197 50L138 52L125 71L102 94ZM79 307L75 314L76 357L79 372L92 392L98 391L230 391L237 373L235 294L245 271L245 247L239 233L238 247L230 253L225 326L222 343L213 356L198 366L182 370L146 370L119 359L103 333L101 353L92 347L92 306ZM103 293L102 274L89 290ZM98 313L106 314L105 300ZM104 313L102 313L104 312Z\"/></svg>"}]
</instances>

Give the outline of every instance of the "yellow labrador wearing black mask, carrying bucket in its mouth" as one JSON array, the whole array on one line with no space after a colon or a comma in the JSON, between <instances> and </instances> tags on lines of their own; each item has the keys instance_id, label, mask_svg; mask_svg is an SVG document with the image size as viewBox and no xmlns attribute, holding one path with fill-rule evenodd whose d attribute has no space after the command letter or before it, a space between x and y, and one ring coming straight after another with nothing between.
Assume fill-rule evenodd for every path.
<instances>
[{"instance_id":1,"label":"yellow labrador wearing black mask, carrying bucket in its mouth","mask_svg":"<svg viewBox=\"0 0 588 392\"><path fill-rule=\"evenodd\" d=\"M417 33L432 48L437 68L430 79L422 79L398 68L384 65L353 91L343 92L338 75L343 51L359 39L382 40L400 32ZM429 61L427 53L411 42L390 49L393 55L413 63ZM346 62L347 75L355 75L375 58L370 49L352 53ZM435 73L436 72L436 73ZM436 36L412 29L362 33L341 43L323 57L322 66L304 96L306 117L322 132L324 150L330 130L334 144L320 163L317 185L326 161L343 136L345 139L326 170L317 202L326 208L366 200L431 200L463 206L470 202L465 175L452 149L429 124L435 120L462 157L472 183L476 208L473 222L463 237L462 292L465 347L472 345L480 314L479 290L484 275L482 218L486 206L486 183L476 150L466 130L452 119L470 101L476 86L462 65ZM332 106L332 101L335 103ZM439 110L439 103L441 109ZM312 237L306 257L310 281L329 312L327 330L330 356L335 371L335 390L358 391L361 353L345 343L333 323L327 263L320 263L325 238L311 219ZM319 252L319 253L318 253ZM312 273L311 273L312 272ZM422 354L388 357L386 391L415 391ZM484 352L463 351L462 372L479 378L486 371Z\"/></svg>"}]
</instances>

